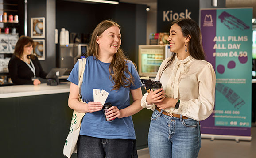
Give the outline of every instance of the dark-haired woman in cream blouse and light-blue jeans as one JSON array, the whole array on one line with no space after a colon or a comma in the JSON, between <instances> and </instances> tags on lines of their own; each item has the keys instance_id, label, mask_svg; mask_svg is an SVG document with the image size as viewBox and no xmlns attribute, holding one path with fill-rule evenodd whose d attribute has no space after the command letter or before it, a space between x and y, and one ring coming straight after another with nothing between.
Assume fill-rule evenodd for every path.
<instances>
[{"instance_id":1,"label":"dark-haired woman in cream blouse and light-blue jeans","mask_svg":"<svg viewBox=\"0 0 256 158\"><path fill-rule=\"evenodd\" d=\"M201 147L199 121L213 112L215 72L205 60L201 31L191 19L170 29L170 51L155 80L163 88L144 94L141 106L153 112L148 133L151 158L196 158Z\"/></svg>"}]
</instances>

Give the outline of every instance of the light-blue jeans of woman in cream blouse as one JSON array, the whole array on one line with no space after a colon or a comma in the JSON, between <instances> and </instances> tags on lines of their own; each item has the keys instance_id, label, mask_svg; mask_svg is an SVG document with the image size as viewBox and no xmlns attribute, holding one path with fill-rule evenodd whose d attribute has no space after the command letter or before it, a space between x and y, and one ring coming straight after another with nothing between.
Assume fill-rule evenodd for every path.
<instances>
[{"instance_id":1,"label":"light-blue jeans of woman in cream blouse","mask_svg":"<svg viewBox=\"0 0 256 158\"><path fill-rule=\"evenodd\" d=\"M199 122L170 117L155 110L148 133L150 158L197 158L201 148Z\"/></svg>"}]
</instances>

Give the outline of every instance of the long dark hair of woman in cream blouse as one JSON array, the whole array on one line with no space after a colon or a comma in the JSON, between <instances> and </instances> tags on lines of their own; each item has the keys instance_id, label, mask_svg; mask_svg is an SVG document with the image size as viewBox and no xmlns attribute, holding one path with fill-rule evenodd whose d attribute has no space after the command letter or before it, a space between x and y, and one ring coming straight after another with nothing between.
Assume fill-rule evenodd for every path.
<instances>
[{"instance_id":1,"label":"long dark hair of woman in cream blouse","mask_svg":"<svg viewBox=\"0 0 256 158\"><path fill-rule=\"evenodd\" d=\"M188 35L191 36L190 41L188 42L188 51L190 55L195 59L205 60L205 53L202 45L202 35L198 24L194 20L188 18L178 19L172 22L172 25L174 24L180 26L184 37L187 37ZM176 54L177 53L175 52L173 53L171 59L165 64L163 71L171 64ZM161 72L161 75L163 74L163 71Z\"/></svg>"}]
</instances>

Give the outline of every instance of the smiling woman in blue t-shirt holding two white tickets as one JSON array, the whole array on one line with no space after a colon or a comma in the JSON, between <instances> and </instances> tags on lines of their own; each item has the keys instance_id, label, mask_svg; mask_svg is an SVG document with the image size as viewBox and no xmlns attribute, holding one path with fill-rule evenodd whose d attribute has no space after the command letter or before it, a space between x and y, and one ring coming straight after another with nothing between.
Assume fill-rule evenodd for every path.
<instances>
[{"instance_id":1,"label":"smiling woman in blue t-shirt holding two white tickets","mask_svg":"<svg viewBox=\"0 0 256 158\"><path fill-rule=\"evenodd\" d=\"M131 115L142 109L142 83L135 65L124 56L120 45L117 23L104 20L93 30L81 87L86 104L78 101L78 63L68 78L71 82L69 107L86 112L78 138L78 158L131 158L133 155L136 137ZM106 102L113 106L106 116L114 119L112 122L105 120L103 105L93 102L93 89L109 92Z\"/></svg>"}]
</instances>

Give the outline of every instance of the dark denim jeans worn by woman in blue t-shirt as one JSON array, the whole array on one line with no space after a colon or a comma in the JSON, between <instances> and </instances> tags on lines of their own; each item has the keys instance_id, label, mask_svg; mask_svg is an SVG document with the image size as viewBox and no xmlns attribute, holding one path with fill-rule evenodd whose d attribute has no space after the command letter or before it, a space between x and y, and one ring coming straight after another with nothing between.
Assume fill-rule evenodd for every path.
<instances>
[{"instance_id":1,"label":"dark denim jeans worn by woman in blue t-shirt","mask_svg":"<svg viewBox=\"0 0 256 158\"><path fill-rule=\"evenodd\" d=\"M77 144L78 158L138 158L136 143L132 139L102 139L79 135Z\"/></svg>"}]
</instances>

